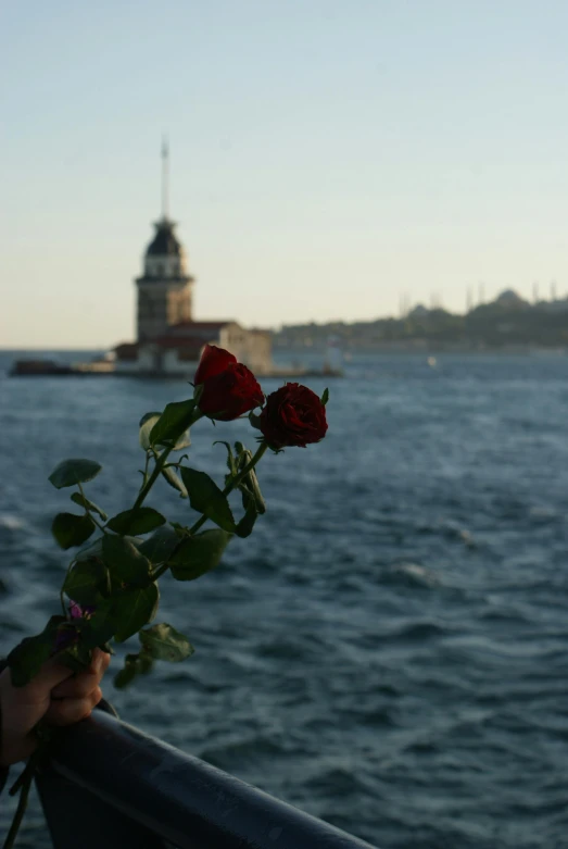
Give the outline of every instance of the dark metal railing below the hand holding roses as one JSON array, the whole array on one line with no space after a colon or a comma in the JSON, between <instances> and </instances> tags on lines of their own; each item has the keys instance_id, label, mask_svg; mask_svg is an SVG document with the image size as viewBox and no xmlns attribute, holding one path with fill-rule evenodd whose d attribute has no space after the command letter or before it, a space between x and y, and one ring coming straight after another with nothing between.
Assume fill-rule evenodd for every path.
<instances>
[{"instance_id":1,"label":"dark metal railing below the hand holding roses","mask_svg":"<svg viewBox=\"0 0 568 849\"><path fill-rule=\"evenodd\" d=\"M374 849L102 711L37 786L55 849Z\"/></svg>"}]
</instances>

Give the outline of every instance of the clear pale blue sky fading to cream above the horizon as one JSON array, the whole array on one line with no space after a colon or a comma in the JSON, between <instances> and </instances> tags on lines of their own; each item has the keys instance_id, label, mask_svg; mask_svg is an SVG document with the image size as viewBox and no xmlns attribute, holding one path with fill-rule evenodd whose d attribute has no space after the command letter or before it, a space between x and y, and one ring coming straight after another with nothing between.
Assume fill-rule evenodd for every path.
<instances>
[{"instance_id":1,"label":"clear pale blue sky fading to cream above the horizon","mask_svg":"<svg viewBox=\"0 0 568 849\"><path fill-rule=\"evenodd\" d=\"M171 211L195 319L568 294L565 0L0 2L0 347L134 338Z\"/></svg>"}]
</instances>

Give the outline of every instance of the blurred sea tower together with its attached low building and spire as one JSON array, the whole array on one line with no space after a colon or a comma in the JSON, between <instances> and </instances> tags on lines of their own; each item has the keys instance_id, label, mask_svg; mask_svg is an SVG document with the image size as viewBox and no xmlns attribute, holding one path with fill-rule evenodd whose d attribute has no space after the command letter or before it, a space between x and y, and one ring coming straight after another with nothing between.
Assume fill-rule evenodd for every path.
<instances>
[{"instance_id":1,"label":"blurred sea tower together with its attached low building and spire","mask_svg":"<svg viewBox=\"0 0 568 849\"><path fill-rule=\"evenodd\" d=\"M162 151L162 217L137 277L137 340L115 348L115 372L155 376L187 376L195 371L203 347L217 345L258 375L272 371L272 340L267 330L248 330L235 321L193 320L194 278L186 252L169 219L168 151Z\"/></svg>"}]
</instances>

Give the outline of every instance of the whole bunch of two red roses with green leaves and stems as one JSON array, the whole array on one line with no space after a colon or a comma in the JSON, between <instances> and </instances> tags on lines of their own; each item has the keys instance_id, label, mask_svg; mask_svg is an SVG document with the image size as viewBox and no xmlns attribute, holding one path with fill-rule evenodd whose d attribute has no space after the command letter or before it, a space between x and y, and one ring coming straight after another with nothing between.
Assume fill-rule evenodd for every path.
<instances>
[{"instance_id":1,"label":"whole bunch of two red roses with green leaves and stems","mask_svg":"<svg viewBox=\"0 0 568 849\"><path fill-rule=\"evenodd\" d=\"M74 487L71 500L81 513L59 513L52 533L63 549L83 546L97 529L101 535L78 551L61 588L61 613L51 616L43 632L21 642L9 656L12 683L26 685L50 658L75 672L87 669L96 648L112 653L111 642L138 634L139 648L126 654L115 685L124 687L147 674L154 661L182 661L193 648L188 638L166 623L154 621L159 578L169 573L176 580L194 580L214 569L233 535L248 537L265 510L256 465L268 450L279 453L289 446L318 442L327 430L328 391L318 398L311 389L288 383L265 397L254 375L236 358L205 346L193 384L193 397L167 404L163 412L147 413L140 422L140 446L146 454L142 483L129 510L111 519L85 492L101 466L92 460L64 460L50 475L56 489ZM227 451L224 486L186 464L187 454L173 452L190 445L190 428L203 417L229 422L249 414L257 432L253 452L242 442L223 445ZM220 440L217 440L220 441ZM188 526L167 522L147 498L159 477L189 501L197 516ZM242 514L237 519L228 495L237 490ZM213 527L202 530L206 522ZM13 846L22 820L34 771L53 731L40 723L39 746L11 789L21 798L4 849Z\"/></svg>"}]
</instances>

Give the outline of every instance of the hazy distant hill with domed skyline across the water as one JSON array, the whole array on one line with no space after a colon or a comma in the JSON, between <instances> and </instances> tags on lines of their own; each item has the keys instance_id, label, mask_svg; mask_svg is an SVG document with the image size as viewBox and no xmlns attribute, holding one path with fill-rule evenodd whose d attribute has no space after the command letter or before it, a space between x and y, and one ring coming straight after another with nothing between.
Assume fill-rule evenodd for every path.
<instances>
[{"instance_id":1,"label":"hazy distant hill with domed skyline across the water","mask_svg":"<svg viewBox=\"0 0 568 849\"><path fill-rule=\"evenodd\" d=\"M568 299L531 304L507 289L465 315L418 304L403 319L286 325L273 339L276 348L324 348L330 337L352 350L568 349Z\"/></svg>"}]
</instances>

